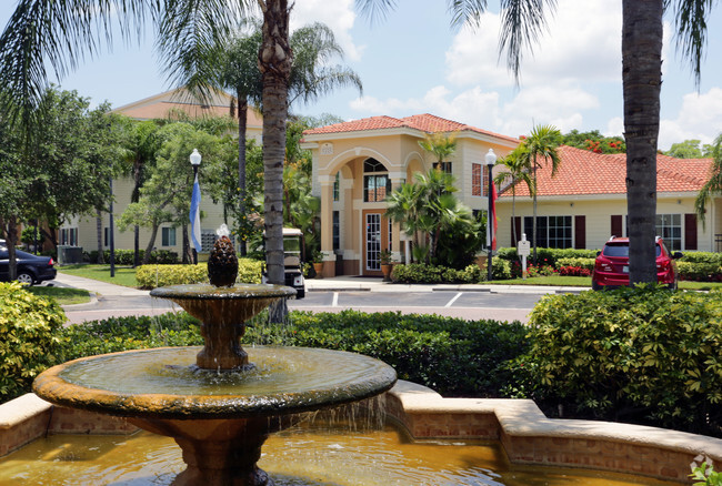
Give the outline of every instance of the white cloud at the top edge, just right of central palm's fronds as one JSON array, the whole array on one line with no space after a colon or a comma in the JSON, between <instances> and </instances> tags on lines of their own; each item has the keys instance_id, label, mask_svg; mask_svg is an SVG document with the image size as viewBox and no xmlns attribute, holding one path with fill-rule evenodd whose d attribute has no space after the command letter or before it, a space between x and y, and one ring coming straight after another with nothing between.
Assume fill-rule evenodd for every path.
<instances>
[{"instance_id":1,"label":"white cloud at the top edge, just right of central palm's fronds","mask_svg":"<svg viewBox=\"0 0 722 486\"><path fill-rule=\"evenodd\" d=\"M291 11L291 30L299 27L322 22L333 30L335 41L343 48L349 60L357 61L363 52L351 37L351 29L357 14L353 0L297 0Z\"/></svg>"}]
</instances>

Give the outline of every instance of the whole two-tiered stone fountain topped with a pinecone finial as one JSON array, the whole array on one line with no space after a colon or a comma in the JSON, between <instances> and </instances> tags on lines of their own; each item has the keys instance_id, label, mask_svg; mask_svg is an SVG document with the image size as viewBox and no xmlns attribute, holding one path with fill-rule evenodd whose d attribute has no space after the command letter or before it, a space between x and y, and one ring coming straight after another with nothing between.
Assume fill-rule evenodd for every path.
<instances>
[{"instance_id":1,"label":"whole two-tiered stone fountain topped with a pinecone finial","mask_svg":"<svg viewBox=\"0 0 722 486\"><path fill-rule=\"evenodd\" d=\"M272 485L257 466L269 434L312 412L381 394L393 368L353 353L240 344L245 321L291 287L235 285L238 260L227 233L209 260L211 284L156 288L202 322L204 346L129 351L54 366L33 384L57 405L128 417L172 437L187 469L174 485ZM229 250L230 247L230 250Z\"/></svg>"}]
</instances>

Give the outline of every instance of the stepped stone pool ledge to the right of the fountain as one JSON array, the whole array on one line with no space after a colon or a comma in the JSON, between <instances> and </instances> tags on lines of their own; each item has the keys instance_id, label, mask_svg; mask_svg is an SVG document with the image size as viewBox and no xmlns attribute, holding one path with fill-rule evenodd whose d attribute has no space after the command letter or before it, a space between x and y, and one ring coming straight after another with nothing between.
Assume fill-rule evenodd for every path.
<instances>
[{"instance_id":1,"label":"stepped stone pool ledge to the right of the fountain","mask_svg":"<svg viewBox=\"0 0 722 486\"><path fill-rule=\"evenodd\" d=\"M598 468L681 483L690 483L690 464L696 456L722 464L722 439L643 425L546 418L530 399L443 398L402 381L389 391L388 399L388 413L414 438L499 438L512 463Z\"/></svg>"}]
</instances>

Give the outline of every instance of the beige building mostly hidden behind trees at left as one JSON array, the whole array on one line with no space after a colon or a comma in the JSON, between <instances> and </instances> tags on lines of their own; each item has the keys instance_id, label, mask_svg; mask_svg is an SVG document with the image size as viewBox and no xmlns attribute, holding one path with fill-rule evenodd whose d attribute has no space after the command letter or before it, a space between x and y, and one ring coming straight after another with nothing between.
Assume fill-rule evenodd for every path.
<instances>
[{"instance_id":1,"label":"beige building mostly hidden behind trees at left","mask_svg":"<svg viewBox=\"0 0 722 486\"><path fill-rule=\"evenodd\" d=\"M203 117L223 117L229 114L231 98L222 92L217 93L212 100L201 103L184 90L171 90L160 93L130 104L117 108L116 113L121 113L136 120L151 119L179 119L179 115L190 118ZM247 138L255 139L259 143L262 139L263 122L259 114L253 110L248 111ZM190 154L189 154L190 156ZM202 163L202 162L201 162ZM188 164L189 173L192 172L190 162ZM133 180L129 176L119 178L113 181L113 214L116 221L123 213L131 202L133 190ZM202 196L202 195L201 195ZM223 223L223 209L219 204L213 204L210 198L203 198L201 201L201 244L203 252L210 252L215 239L215 230ZM109 214L102 215L102 244L103 249L110 246ZM113 233L116 249L133 249L133 231L116 231ZM150 230L140 229L140 249L144 250L150 239ZM70 219L60 230L58 242L61 245L81 246L83 251L90 252L98 249L98 230L97 220L92 215L74 216ZM163 223L159 229L156 237L157 250L168 250L182 254L182 235L180 227L171 223Z\"/></svg>"}]
</instances>

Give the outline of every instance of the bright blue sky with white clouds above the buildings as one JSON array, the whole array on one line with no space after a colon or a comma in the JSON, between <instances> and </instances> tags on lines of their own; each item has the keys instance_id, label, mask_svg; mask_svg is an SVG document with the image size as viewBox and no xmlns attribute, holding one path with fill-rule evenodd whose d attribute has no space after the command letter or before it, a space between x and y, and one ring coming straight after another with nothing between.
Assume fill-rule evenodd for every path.
<instances>
[{"instance_id":1,"label":"bright blue sky with white clouds above the buildings","mask_svg":"<svg viewBox=\"0 0 722 486\"><path fill-rule=\"evenodd\" d=\"M538 124L563 133L622 134L621 0L558 0L548 32L524 55L519 85L499 60L499 2L489 2L477 29L452 28L447 1L398 3L371 20L353 0L295 0L291 29L328 24L345 53L337 62L360 75L363 94L339 89L313 104L292 105L293 113L344 120L432 113L510 136ZM0 0L1 26L16 4ZM722 133L722 10L718 6L710 19L699 87L675 49L673 21L665 19L661 150L690 139L711 143ZM161 93L174 87L160 71L153 41L148 29L140 41L117 41L66 78L50 80L113 108Z\"/></svg>"}]
</instances>

